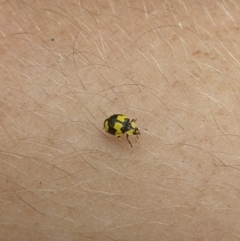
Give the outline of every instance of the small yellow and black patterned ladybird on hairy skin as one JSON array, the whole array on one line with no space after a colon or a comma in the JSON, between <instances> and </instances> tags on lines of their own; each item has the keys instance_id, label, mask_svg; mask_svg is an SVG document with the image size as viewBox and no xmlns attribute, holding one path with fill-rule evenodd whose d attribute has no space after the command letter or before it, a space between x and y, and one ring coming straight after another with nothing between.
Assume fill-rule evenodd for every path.
<instances>
[{"instance_id":1,"label":"small yellow and black patterned ladybird on hairy skin","mask_svg":"<svg viewBox=\"0 0 240 241\"><path fill-rule=\"evenodd\" d=\"M140 131L136 126L136 120L137 119L130 120L127 116L122 114L114 114L104 121L103 127L106 132L117 137L126 133L127 141L132 147L132 143L128 140L128 136L140 135Z\"/></svg>"}]
</instances>

